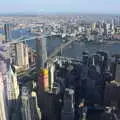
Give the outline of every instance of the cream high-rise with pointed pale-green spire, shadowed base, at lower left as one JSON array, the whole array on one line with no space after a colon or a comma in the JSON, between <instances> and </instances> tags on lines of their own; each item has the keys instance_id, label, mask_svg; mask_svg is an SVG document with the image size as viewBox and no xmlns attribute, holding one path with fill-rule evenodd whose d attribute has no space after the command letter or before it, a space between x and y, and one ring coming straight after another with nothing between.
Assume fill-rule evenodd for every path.
<instances>
[{"instance_id":1,"label":"cream high-rise with pointed pale-green spire, shadowed base, at lower left","mask_svg":"<svg viewBox=\"0 0 120 120\"><path fill-rule=\"evenodd\" d=\"M19 85L17 83L17 76L15 69L10 66L7 72L3 75L5 98L7 103L7 110L9 118L13 117L13 112L18 106ZM16 107L15 107L16 106ZM16 112L16 111L15 111Z\"/></svg>"}]
</instances>

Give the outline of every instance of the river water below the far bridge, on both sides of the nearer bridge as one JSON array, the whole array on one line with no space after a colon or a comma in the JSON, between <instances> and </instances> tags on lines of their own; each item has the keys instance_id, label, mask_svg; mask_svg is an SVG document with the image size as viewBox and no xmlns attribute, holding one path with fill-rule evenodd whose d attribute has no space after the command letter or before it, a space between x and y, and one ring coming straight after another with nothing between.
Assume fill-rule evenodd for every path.
<instances>
[{"instance_id":1,"label":"river water below the far bridge, on both sides of the nearer bridge","mask_svg":"<svg viewBox=\"0 0 120 120\"><path fill-rule=\"evenodd\" d=\"M48 56L62 44L62 39L53 38L47 40ZM28 41L28 45L35 49L35 41ZM94 54L98 50L104 50L108 55L120 54L120 43L108 44L86 44L84 42L73 42L62 50L62 56L80 58L82 52L88 51Z\"/></svg>"}]
</instances>

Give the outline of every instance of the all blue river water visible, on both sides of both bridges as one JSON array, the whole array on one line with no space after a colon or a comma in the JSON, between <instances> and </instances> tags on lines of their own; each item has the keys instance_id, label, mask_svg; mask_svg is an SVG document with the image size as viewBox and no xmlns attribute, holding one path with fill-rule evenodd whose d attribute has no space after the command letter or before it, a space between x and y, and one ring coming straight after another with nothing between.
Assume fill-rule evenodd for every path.
<instances>
[{"instance_id":1,"label":"all blue river water visible, on both sides of both bridges","mask_svg":"<svg viewBox=\"0 0 120 120\"><path fill-rule=\"evenodd\" d=\"M3 31L0 31L0 33L3 33ZM17 39L21 36L29 36L32 37L34 36L33 33L29 32L29 29L19 29L19 30L14 30L12 31L12 38ZM51 37L47 39L47 53L48 56L58 47L60 46L63 42L61 38L58 37ZM31 40L27 42L30 47L33 49L36 49L36 43L35 40ZM79 58L82 55L83 51L88 51L89 53L95 53L96 50L104 50L107 52L109 55L111 54L120 54L120 43L114 43L112 45L93 45L93 44L85 44L84 42L73 42L66 48L62 50L62 56L67 56L67 57L75 57Z\"/></svg>"}]
</instances>

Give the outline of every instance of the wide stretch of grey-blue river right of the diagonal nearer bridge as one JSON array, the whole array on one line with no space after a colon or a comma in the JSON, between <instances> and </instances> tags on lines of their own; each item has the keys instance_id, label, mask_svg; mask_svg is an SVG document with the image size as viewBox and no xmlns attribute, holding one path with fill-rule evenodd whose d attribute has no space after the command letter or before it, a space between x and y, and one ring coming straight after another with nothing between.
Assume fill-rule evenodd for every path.
<instances>
[{"instance_id":1,"label":"wide stretch of grey-blue river right of the diagonal nearer bridge","mask_svg":"<svg viewBox=\"0 0 120 120\"><path fill-rule=\"evenodd\" d=\"M79 58L82 52L88 51L90 54L94 54L96 51L105 51L108 55L120 54L120 43L114 43L112 45L107 44L86 44L84 42L74 42L70 46L63 50L63 56Z\"/></svg>"}]
</instances>

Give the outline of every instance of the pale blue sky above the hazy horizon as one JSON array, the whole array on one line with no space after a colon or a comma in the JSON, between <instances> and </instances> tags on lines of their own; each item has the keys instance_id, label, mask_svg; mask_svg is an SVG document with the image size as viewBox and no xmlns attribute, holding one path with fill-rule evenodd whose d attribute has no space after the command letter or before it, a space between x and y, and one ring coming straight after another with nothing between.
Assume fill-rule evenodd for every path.
<instances>
[{"instance_id":1,"label":"pale blue sky above the hazy horizon","mask_svg":"<svg viewBox=\"0 0 120 120\"><path fill-rule=\"evenodd\" d=\"M120 0L1 0L0 13L120 13Z\"/></svg>"}]
</instances>

